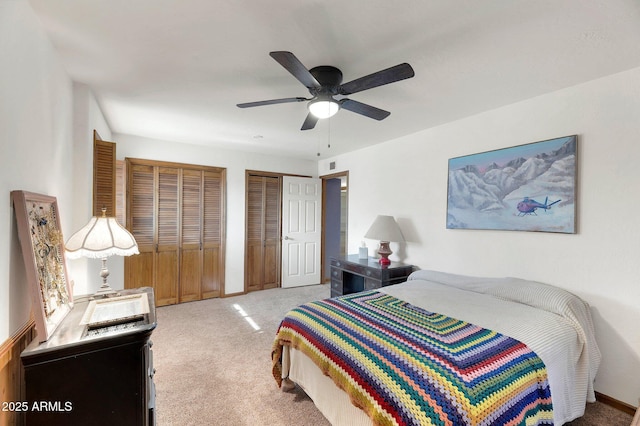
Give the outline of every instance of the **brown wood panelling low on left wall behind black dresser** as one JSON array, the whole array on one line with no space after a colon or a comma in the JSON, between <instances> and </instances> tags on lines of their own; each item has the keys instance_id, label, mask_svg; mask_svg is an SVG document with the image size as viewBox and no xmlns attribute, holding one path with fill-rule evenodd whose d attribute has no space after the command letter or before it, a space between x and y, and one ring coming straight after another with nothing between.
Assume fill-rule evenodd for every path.
<instances>
[{"instance_id":1,"label":"brown wood panelling low on left wall behind black dresser","mask_svg":"<svg viewBox=\"0 0 640 426\"><path fill-rule=\"evenodd\" d=\"M29 320L16 334L0 346L0 395L2 401L24 401L24 369L20 354L36 337L36 326ZM0 411L0 424L17 425L23 419L15 411Z\"/></svg>"}]
</instances>

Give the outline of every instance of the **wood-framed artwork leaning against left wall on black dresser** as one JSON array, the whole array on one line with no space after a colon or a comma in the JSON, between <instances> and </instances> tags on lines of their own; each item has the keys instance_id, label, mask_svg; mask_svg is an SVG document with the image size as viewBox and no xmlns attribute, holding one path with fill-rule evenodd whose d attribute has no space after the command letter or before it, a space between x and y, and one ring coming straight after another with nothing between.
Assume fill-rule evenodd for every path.
<instances>
[{"instance_id":1,"label":"wood-framed artwork leaning against left wall on black dresser","mask_svg":"<svg viewBox=\"0 0 640 426\"><path fill-rule=\"evenodd\" d=\"M58 202L55 197L26 191L12 191L11 200L38 340L44 342L73 308Z\"/></svg>"}]
</instances>

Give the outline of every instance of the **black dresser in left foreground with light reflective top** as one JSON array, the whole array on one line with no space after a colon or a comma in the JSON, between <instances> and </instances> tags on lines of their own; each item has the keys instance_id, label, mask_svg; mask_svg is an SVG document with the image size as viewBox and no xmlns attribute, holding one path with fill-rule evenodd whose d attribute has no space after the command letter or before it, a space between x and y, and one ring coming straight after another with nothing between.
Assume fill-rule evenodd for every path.
<instances>
[{"instance_id":1,"label":"black dresser in left foreground with light reflective top","mask_svg":"<svg viewBox=\"0 0 640 426\"><path fill-rule=\"evenodd\" d=\"M34 341L22 352L27 425L155 424L153 289L120 294L132 296L122 302L123 312L125 303L140 301L147 312L84 325L90 301L76 300L49 340Z\"/></svg>"}]
</instances>

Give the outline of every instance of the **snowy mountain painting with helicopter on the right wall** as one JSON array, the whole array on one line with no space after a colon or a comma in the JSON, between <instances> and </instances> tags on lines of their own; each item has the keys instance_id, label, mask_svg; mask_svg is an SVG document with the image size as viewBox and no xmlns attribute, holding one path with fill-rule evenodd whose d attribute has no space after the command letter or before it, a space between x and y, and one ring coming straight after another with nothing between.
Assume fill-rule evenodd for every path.
<instances>
[{"instance_id":1,"label":"snowy mountain painting with helicopter on the right wall","mask_svg":"<svg viewBox=\"0 0 640 426\"><path fill-rule=\"evenodd\" d=\"M575 233L577 137L449 160L447 228Z\"/></svg>"}]
</instances>

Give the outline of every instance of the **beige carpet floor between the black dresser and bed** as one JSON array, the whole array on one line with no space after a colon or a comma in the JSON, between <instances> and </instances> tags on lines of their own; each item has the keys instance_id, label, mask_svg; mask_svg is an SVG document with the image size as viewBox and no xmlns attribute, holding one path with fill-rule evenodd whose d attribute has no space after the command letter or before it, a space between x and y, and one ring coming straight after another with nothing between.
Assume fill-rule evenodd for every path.
<instances>
[{"instance_id":1,"label":"beige carpet floor between the black dresser and bed","mask_svg":"<svg viewBox=\"0 0 640 426\"><path fill-rule=\"evenodd\" d=\"M151 337L158 426L328 425L304 392L278 389L270 355L284 314L329 293L328 285L318 285L158 308ZM631 420L595 403L570 425L627 426Z\"/></svg>"}]
</instances>

